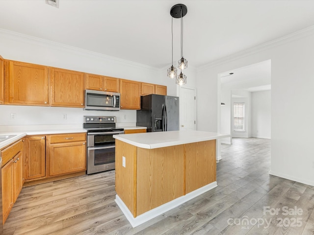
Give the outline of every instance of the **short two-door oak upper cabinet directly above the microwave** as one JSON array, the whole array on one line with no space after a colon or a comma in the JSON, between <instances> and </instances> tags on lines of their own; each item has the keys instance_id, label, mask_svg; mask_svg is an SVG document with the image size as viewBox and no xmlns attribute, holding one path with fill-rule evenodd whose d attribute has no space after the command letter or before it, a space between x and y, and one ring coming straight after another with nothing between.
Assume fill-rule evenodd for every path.
<instances>
[{"instance_id":1,"label":"short two-door oak upper cabinet directly above the microwave","mask_svg":"<svg viewBox=\"0 0 314 235\"><path fill-rule=\"evenodd\" d=\"M119 92L119 78L85 73L86 89Z\"/></svg>"}]
</instances>

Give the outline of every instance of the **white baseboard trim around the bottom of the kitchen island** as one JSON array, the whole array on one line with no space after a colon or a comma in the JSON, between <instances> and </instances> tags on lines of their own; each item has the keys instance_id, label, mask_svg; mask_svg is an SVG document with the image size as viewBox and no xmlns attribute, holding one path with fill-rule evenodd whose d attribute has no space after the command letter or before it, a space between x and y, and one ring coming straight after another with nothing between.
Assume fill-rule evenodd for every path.
<instances>
[{"instance_id":1,"label":"white baseboard trim around the bottom of the kitchen island","mask_svg":"<svg viewBox=\"0 0 314 235\"><path fill-rule=\"evenodd\" d=\"M124 204L124 202L121 200L121 198L118 195L116 195L116 199L114 201L117 203L118 207L121 209L121 211L124 213L124 215L129 220L130 224L134 228L134 227L136 227L140 224L143 224L143 223L147 222L148 220L151 220L151 219L157 217L158 215L160 215L166 211L170 211L171 209L180 206L184 202L187 202L187 201L191 200L192 198L197 197L197 196L201 195L202 193L207 192L210 189L216 188L216 187L217 187L217 182L214 181L214 182L212 182L212 183L210 183L210 184L208 184L202 188L198 188L192 192L185 194L184 196L181 196L181 197L176 198L170 202L167 202L166 204L163 204L157 208L154 208L153 210L150 210L150 211L147 211L143 214L140 214L140 215L136 216L135 218L133 217L129 208Z\"/></svg>"}]
</instances>

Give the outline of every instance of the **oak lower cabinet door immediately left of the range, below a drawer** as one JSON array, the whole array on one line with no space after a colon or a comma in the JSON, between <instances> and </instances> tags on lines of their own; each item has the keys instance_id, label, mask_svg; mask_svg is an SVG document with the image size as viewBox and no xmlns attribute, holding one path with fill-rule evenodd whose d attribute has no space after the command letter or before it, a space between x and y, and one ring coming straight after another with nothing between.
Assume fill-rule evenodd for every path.
<instances>
[{"instance_id":1,"label":"oak lower cabinet door immediately left of the range, below a drawer","mask_svg":"<svg viewBox=\"0 0 314 235\"><path fill-rule=\"evenodd\" d=\"M49 144L49 175L86 170L86 142Z\"/></svg>"}]
</instances>

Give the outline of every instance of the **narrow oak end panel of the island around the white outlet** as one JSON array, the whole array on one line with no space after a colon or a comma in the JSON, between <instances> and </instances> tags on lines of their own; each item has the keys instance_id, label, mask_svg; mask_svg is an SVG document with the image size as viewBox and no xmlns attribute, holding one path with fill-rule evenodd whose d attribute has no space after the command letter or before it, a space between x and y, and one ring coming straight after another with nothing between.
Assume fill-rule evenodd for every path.
<instances>
[{"instance_id":1,"label":"narrow oak end panel of the island around the white outlet","mask_svg":"<svg viewBox=\"0 0 314 235\"><path fill-rule=\"evenodd\" d=\"M122 158L126 158L126 167ZM136 147L116 140L115 189L118 196L136 217Z\"/></svg>"}]
</instances>

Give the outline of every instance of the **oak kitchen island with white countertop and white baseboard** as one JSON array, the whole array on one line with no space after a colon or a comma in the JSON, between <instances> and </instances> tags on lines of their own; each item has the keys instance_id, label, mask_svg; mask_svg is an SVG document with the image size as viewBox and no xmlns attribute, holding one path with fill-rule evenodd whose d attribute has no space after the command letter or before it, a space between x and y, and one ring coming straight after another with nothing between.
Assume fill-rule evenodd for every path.
<instances>
[{"instance_id":1,"label":"oak kitchen island with white countertop and white baseboard","mask_svg":"<svg viewBox=\"0 0 314 235\"><path fill-rule=\"evenodd\" d=\"M217 187L216 139L168 131L115 135L116 203L133 227Z\"/></svg>"}]
</instances>

